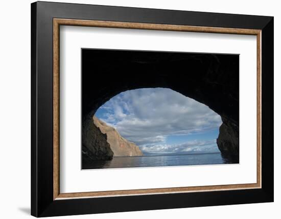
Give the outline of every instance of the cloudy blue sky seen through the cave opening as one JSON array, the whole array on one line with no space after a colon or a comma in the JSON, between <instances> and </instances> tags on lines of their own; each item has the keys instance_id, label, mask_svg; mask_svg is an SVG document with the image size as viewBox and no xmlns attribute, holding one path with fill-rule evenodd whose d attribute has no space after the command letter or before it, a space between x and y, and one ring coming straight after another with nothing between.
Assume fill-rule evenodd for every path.
<instances>
[{"instance_id":1,"label":"cloudy blue sky seen through the cave opening","mask_svg":"<svg viewBox=\"0 0 281 219\"><path fill-rule=\"evenodd\" d=\"M95 114L144 154L219 152L221 117L208 106L166 88L122 92Z\"/></svg>"}]
</instances>

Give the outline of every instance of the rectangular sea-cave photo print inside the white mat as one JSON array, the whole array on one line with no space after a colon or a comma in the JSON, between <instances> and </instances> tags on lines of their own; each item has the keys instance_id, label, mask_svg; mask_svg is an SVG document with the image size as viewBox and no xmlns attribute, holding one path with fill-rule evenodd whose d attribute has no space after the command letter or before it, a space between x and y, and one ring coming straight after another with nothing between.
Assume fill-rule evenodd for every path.
<instances>
[{"instance_id":1,"label":"rectangular sea-cave photo print inside the white mat","mask_svg":"<svg viewBox=\"0 0 281 219\"><path fill-rule=\"evenodd\" d=\"M81 49L82 169L239 163L239 55Z\"/></svg>"}]
</instances>

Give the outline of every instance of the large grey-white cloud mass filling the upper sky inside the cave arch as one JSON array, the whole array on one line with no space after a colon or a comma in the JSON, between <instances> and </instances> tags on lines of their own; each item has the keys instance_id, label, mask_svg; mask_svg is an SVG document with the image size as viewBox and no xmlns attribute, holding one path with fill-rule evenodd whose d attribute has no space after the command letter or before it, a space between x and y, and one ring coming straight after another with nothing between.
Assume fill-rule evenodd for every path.
<instances>
[{"instance_id":1,"label":"large grey-white cloud mass filling the upper sky inside the cave arch","mask_svg":"<svg viewBox=\"0 0 281 219\"><path fill-rule=\"evenodd\" d=\"M169 135L208 132L222 123L208 106L163 88L122 92L101 109L106 113L100 119L139 146L165 144Z\"/></svg>"}]
</instances>

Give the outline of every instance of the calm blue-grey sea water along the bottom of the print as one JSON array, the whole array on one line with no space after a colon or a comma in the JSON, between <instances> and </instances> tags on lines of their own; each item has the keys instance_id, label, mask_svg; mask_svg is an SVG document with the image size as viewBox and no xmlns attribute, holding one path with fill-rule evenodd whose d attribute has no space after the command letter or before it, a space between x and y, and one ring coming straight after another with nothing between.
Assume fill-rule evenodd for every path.
<instances>
[{"instance_id":1,"label":"calm blue-grey sea water along the bottom of the print","mask_svg":"<svg viewBox=\"0 0 281 219\"><path fill-rule=\"evenodd\" d=\"M221 153L190 154L190 155L157 155L137 157L113 157L110 161L93 161L83 169L100 168L130 168L130 167L161 167L161 166L186 166L186 165L209 165L230 164L233 162L223 158Z\"/></svg>"}]
</instances>

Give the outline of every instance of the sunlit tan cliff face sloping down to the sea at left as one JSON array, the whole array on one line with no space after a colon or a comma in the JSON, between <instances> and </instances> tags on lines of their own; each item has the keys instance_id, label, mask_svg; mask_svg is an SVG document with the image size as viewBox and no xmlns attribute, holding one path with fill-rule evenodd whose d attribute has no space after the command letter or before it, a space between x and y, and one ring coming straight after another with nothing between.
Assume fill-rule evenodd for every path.
<instances>
[{"instance_id":1,"label":"sunlit tan cliff face sloping down to the sea at left","mask_svg":"<svg viewBox=\"0 0 281 219\"><path fill-rule=\"evenodd\" d=\"M118 131L99 120L96 116L93 116L93 123L101 130L103 134L107 136L107 142L113 151L113 157L120 156L142 156L143 152L134 143L124 139Z\"/></svg>"}]
</instances>

